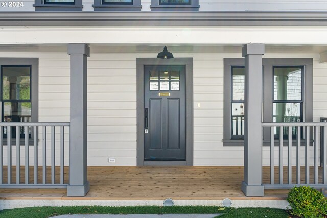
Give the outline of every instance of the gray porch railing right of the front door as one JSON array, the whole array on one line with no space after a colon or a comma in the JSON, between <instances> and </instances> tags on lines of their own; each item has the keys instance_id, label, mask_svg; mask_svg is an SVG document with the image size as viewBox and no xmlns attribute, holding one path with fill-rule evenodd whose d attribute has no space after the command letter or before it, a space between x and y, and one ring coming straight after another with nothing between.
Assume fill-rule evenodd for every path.
<instances>
[{"instance_id":1,"label":"gray porch railing right of the front door","mask_svg":"<svg viewBox=\"0 0 327 218\"><path fill-rule=\"evenodd\" d=\"M263 131L270 128L270 175L263 175L265 189L327 188L327 137L320 141L320 135L327 136L327 123L262 123L262 127Z\"/></svg>"}]
</instances>

